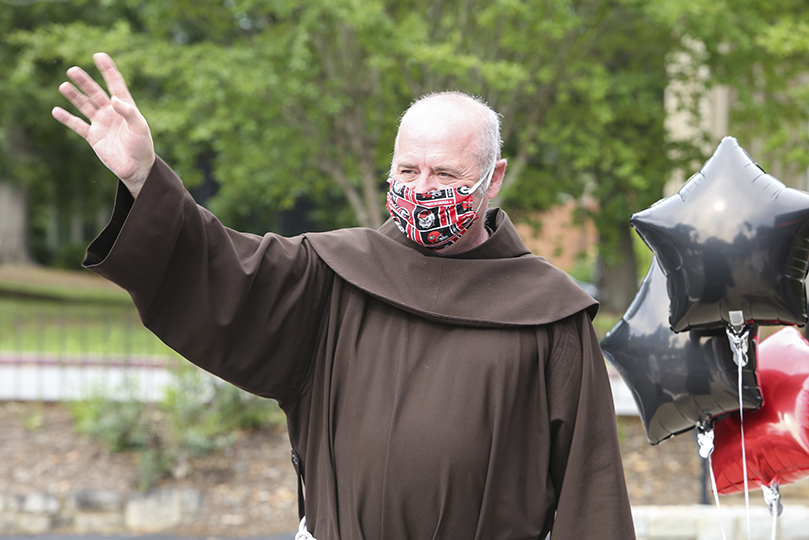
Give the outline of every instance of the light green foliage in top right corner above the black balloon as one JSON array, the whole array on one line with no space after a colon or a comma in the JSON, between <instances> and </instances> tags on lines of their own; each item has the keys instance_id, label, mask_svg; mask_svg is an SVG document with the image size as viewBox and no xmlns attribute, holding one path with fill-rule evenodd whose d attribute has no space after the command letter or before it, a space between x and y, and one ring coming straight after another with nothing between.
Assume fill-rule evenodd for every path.
<instances>
[{"instance_id":1,"label":"light green foliage in top right corner above the black balloon","mask_svg":"<svg viewBox=\"0 0 809 540\"><path fill-rule=\"evenodd\" d=\"M650 12L672 29L678 41L689 45L683 52L690 57L686 65L691 69L672 74L700 83L691 85L695 95L686 101L696 104L697 98L719 85L730 88L728 134L739 139L765 169L778 169L782 180L805 176L809 166L809 4L800 0L653 0ZM695 75L695 66L704 71ZM700 142L710 154L719 141L703 133Z\"/></svg>"}]
</instances>

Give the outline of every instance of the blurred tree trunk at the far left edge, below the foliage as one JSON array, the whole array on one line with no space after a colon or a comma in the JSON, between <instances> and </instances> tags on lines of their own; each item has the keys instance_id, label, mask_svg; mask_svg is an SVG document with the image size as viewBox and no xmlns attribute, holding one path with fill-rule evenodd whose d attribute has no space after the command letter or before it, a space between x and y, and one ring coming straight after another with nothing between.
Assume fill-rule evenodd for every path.
<instances>
[{"instance_id":1,"label":"blurred tree trunk at the far left edge, below the foliage","mask_svg":"<svg viewBox=\"0 0 809 540\"><path fill-rule=\"evenodd\" d=\"M32 264L28 255L28 193L0 180L0 264Z\"/></svg>"}]
</instances>

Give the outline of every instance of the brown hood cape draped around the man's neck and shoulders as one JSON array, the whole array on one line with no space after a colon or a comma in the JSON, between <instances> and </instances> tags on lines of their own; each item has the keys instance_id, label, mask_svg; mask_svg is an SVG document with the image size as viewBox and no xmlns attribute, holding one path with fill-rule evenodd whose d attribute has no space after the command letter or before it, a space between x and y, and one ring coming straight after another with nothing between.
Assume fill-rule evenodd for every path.
<instances>
[{"instance_id":1,"label":"brown hood cape draped around the man's neck and shoulders","mask_svg":"<svg viewBox=\"0 0 809 540\"><path fill-rule=\"evenodd\" d=\"M378 230L308 233L318 256L354 287L383 302L439 322L468 326L534 326L598 303L564 272L531 254L509 217L486 213L491 235L455 255L439 255L407 239L388 220Z\"/></svg>"}]
</instances>

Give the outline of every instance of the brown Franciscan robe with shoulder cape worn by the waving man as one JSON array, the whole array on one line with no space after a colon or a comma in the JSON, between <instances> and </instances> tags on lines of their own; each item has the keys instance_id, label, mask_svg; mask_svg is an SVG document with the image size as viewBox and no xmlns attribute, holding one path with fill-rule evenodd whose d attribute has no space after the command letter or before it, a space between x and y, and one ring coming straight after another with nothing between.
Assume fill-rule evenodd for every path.
<instances>
[{"instance_id":1,"label":"brown Franciscan robe with shoulder cape worn by the waving man","mask_svg":"<svg viewBox=\"0 0 809 540\"><path fill-rule=\"evenodd\" d=\"M634 538L596 304L487 222L455 256L391 223L243 234L158 160L85 265L180 354L279 401L318 540Z\"/></svg>"}]
</instances>

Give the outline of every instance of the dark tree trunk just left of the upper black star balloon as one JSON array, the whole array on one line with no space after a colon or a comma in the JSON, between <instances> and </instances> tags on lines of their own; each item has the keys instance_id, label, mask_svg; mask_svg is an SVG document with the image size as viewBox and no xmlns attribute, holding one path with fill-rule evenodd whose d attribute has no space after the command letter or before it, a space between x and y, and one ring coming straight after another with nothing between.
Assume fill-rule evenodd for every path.
<instances>
[{"instance_id":1,"label":"dark tree trunk just left of the upper black star balloon","mask_svg":"<svg viewBox=\"0 0 809 540\"><path fill-rule=\"evenodd\" d=\"M617 253L610 257L599 256L598 287L601 309L607 313L623 314L638 292L635 250L632 245L630 227L618 227L615 248ZM599 234L599 243L607 240Z\"/></svg>"}]
</instances>

